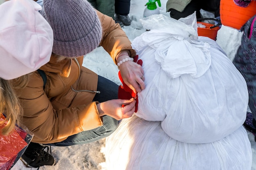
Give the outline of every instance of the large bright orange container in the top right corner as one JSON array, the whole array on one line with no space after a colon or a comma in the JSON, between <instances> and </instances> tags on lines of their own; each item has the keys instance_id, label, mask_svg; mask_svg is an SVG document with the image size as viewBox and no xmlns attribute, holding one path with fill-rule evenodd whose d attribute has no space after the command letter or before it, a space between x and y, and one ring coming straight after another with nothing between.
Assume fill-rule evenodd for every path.
<instances>
[{"instance_id":1,"label":"large bright orange container in the top right corner","mask_svg":"<svg viewBox=\"0 0 256 170\"><path fill-rule=\"evenodd\" d=\"M233 0L220 0L220 21L225 26L240 30L256 14L256 1L247 7L240 7Z\"/></svg>"}]
</instances>

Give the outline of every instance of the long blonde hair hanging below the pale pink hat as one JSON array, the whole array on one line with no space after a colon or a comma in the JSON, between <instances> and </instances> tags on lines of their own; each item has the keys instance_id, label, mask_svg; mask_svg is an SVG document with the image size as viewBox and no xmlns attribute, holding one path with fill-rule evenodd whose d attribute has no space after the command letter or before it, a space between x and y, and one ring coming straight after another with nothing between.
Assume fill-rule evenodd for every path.
<instances>
[{"instance_id":1,"label":"long blonde hair hanging below the pale pink hat","mask_svg":"<svg viewBox=\"0 0 256 170\"><path fill-rule=\"evenodd\" d=\"M0 78L0 113L6 116L6 119L0 121L1 135L8 135L19 125L19 119L22 115L19 99L14 92L15 88L24 88L28 83L28 75L18 77L17 79L5 80ZM4 125L6 123L6 125Z\"/></svg>"}]
</instances>

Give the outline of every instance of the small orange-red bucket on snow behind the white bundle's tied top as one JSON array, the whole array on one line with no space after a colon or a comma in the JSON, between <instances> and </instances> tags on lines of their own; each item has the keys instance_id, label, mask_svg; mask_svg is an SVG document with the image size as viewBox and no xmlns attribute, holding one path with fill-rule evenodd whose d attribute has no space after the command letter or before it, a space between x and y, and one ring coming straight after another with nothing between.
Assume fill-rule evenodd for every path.
<instances>
[{"instance_id":1,"label":"small orange-red bucket on snow behind the white bundle's tied top","mask_svg":"<svg viewBox=\"0 0 256 170\"><path fill-rule=\"evenodd\" d=\"M198 23L206 26L205 28L198 27L198 36L209 37L216 41L217 32L220 29L220 27L217 26L211 29L210 27L214 26L214 24L209 24L205 22L198 22Z\"/></svg>"}]
</instances>

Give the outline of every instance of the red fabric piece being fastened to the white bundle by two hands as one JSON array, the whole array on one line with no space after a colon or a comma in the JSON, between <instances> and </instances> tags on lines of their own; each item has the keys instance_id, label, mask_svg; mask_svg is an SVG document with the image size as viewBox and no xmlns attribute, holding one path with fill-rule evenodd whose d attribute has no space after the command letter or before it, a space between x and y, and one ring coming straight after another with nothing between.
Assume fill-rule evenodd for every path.
<instances>
[{"instance_id":1,"label":"red fabric piece being fastened to the white bundle by two hands","mask_svg":"<svg viewBox=\"0 0 256 170\"><path fill-rule=\"evenodd\" d=\"M133 62L136 62L137 64L141 65L142 66L142 60L138 60L138 55L136 55L134 58L133 58ZM118 72L118 77L121 81L121 83L123 84L119 86L118 88L118 99L131 99L132 97L136 100L136 104L135 104L135 113L137 112L138 110L138 97L137 97L137 93L134 93L134 91L132 91L132 89L130 87L128 87L125 83L124 83L124 80L121 76L121 73L120 71ZM124 105L122 105L122 107L124 107Z\"/></svg>"}]
</instances>

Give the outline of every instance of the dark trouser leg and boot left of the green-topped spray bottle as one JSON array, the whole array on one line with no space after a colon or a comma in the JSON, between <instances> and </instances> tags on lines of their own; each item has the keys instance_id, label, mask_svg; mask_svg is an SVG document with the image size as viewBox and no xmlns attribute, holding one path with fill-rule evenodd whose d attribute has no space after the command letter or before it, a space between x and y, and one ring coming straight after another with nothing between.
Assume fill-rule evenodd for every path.
<instances>
[{"instance_id":1,"label":"dark trouser leg and boot left of the green-topped spray bottle","mask_svg":"<svg viewBox=\"0 0 256 170\"><path fill-rule=\"evenodd\" d=\"M130 0L115 0L115 21L126 26L131 24L128 16L130 13ZM121 24L120 24L121 25Z\"/></svg>"}]
</instances>

